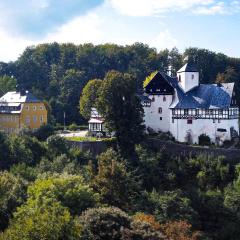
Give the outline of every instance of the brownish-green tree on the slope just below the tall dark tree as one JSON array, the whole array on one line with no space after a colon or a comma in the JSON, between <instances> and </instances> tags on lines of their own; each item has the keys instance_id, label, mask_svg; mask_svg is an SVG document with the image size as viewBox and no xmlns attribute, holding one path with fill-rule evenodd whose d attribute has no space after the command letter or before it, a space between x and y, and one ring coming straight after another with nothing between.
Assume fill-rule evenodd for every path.
<instances>
[{"instance_id":1,"label":"brownish-green tree on the slope just below the tall dark tree","mask_svg":"<svg viewBox=\"0 0 240 240\"><path fill-rule=\"evenodd\" d=\"M139 197L140 183L127 171L121 157L112 149L98 157L98 172L92 181L103 203L129 210Z\"/></svg>"}]
</instances>

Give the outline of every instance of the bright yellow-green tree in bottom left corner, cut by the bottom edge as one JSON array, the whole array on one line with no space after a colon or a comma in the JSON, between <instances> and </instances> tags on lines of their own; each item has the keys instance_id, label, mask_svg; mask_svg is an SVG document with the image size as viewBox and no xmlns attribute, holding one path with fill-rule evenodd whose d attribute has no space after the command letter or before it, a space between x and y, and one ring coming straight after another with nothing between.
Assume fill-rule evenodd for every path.
<instances>
[{"instance_id":1,"label":"bright yellow-green tree in bottom left corner, cut by the bottom edge","mask_svg":"<svg viewBox=\"0 0 240 240\"><path fill-rule=\"evenodd\" d=\"M43 206L31 203L21 206L0 239L71 240L79 239L80 234L81 226L74 221L69 211L53 201Z\"/></svg>"}]
</instances>

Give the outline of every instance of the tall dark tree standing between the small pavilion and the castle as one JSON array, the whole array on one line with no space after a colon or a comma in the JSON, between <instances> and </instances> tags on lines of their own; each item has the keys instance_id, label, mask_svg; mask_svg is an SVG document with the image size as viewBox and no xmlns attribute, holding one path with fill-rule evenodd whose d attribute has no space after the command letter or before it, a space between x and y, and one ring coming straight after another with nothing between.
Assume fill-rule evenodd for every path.
<instances>
[{"instance_id":1,"label":"tall dark tree standing between the small pavilion and the castle","mask_svg":"<svg viewBox=\"0 0 240 240\"><path fill-rule=\"evenodd\" d=\"M129 74L108 72L104 78L97 109L109 131L115 132L120 151L132 155L143 137L143 108L136 96L136 82Z\"/></svg>"}]
</instances>

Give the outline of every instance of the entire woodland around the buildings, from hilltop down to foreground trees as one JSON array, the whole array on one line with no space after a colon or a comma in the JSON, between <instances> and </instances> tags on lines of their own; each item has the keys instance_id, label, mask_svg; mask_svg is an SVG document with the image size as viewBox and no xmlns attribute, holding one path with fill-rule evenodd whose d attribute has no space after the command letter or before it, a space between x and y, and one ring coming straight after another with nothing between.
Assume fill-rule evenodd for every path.
<instances>
[{"instance_id":1,"label":"entire woodland around the buildings, from hilltop down to foreground trees","mask_svg":"<svg viewBox=\"0 0 240 240\"><path fill-rule=\"evenodd\" d=\"M82 124L96 106L115 138L95 156L51 124L0 132L0 240L238 240L239 156L172 156L145 135L136 93L151 72L171 65L174 74L186 56L202 83L234 81L238 91L240 59L197 48L53 43L1 63L1 90L43 98L52 125L64 111L67 123Z\"/></svg>"}]
</instances>

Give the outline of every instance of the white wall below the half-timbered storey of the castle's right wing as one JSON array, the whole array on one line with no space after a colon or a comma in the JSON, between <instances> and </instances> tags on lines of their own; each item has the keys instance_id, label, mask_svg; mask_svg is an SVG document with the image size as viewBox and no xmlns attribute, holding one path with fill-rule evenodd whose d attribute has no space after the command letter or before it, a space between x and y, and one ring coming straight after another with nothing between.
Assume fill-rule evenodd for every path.
<instances>
[{"instance_id":1,"label":"white wall below the half-timbered storey of the castle's right wing","mask_svg":"<svg viewBox=\"0 0 240 240\"><path fill-rule=\"evenodd\" d=\"M179 142L186 141L187 132L190 131L193 139L193 143L198 143L198 137L201 134L207 134L211 141L215 143L216 137L220 137L221 142L224 140L230 140L230 128L234 129L239 133L238 119L227 119L227 120L215 120L212 119L193 119L192 124L187 124L187 119L174 119L174 123L171 124L171 132L176 140ZM226 129L227 132L218 132L218 128Z\"/></svg>"}]
</instances>

